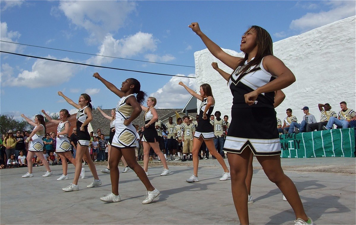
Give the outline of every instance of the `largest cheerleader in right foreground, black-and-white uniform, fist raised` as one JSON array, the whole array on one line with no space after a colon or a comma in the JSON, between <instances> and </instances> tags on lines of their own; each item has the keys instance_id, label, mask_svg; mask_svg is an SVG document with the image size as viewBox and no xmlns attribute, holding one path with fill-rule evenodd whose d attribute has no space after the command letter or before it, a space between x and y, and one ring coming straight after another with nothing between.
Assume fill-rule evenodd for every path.
<instances>
[{"instance_id":1,"label":"largest cheerleader in right foreground, black-and-white uniform, fist raised","mask_svg":"<svg viewBox=\"0 0 356 225\"><path fill-rule=\"evenodd\" d=\"M201 32L198 23L190 28L201 38L211 54L234 71L222 77L233 95L231 124L224 151L231 167L231 191L241 224L248 224L248 193L245 179L251 151L269 180L285 195L295 214L296 225L310 225L297 188L281 167L281 145L277 131L274 91L295 82L294 74L273 56L272 38L259 26L250 27L241 37L244 58L227 54ZM257 128L257 129L256 129Z\"/></svg>"}]
</instances>

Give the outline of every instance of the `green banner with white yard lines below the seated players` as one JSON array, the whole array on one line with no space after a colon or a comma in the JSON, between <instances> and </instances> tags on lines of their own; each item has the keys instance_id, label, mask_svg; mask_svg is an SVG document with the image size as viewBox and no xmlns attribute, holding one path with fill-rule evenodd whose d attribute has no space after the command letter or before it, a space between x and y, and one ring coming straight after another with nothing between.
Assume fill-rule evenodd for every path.
<instances>
[{"instance_id":1,"label":"green banner with white yard lines below the seated players","mask_svg":"<svg viewBox=\"0 0 356 225\"><path fill-rule=\"evenodd\" d=\"M281 158L355 157L355 130L331 129L279 135Z\"/></svg>"}]
</instances>

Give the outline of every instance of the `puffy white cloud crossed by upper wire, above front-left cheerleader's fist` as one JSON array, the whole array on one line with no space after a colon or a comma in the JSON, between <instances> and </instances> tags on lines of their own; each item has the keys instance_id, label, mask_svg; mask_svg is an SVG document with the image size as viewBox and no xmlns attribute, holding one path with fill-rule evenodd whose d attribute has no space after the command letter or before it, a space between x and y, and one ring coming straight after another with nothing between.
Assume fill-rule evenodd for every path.
<instances>
[{"instance_id":1,"label":"puffy white cloud crossed by upper wire, above front-left cheerleader's fist","mask_svg":"<svg viewBox=\"0 0 356 225\"><path fill-rule=\"evenodd\" d=\"M108 34L99 47L100 51L97 54L120 58L132 57L146 51L155 51L158 41L151 33L138 32L119 40ZM93 56L88 59L87 63L101 65L102 63L110 63L114 60L113 58L102 56Z\"/></svg>"}]
</instances>

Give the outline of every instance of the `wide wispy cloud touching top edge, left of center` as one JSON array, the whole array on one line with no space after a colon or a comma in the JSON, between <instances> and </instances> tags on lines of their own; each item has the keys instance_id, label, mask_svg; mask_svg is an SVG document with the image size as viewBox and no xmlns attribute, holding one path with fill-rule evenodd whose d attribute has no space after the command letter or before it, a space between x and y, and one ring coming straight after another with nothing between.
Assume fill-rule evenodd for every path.
<instances>
[{"instance_id":1,"label":"wide wispy cloud touching top edge, left of center","mask_svg":"<svg viewBox=\"0 0 356 225\"><path fill-rule=\"evenodd\" d=\"M127 16L135 11L134 1L60 1L59 10L75 25L90 34L89 42L103 40L109 32L125 25Z\"/></svg>"}]
</instances>

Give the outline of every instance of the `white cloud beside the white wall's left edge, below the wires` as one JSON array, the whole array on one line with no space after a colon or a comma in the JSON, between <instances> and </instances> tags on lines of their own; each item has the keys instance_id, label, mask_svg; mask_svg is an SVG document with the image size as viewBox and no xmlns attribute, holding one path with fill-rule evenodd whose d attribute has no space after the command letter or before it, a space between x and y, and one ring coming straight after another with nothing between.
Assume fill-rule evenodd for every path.
<instances>
[{"instance_id":1,"label":"white cloud beside the white wall's left edge, below the wires","mask_svg":"<svg viewBox=\"0 0 356 225\"><path fill-rule=\"evenodd\" d=\"M156 92L151 93L150 96L157 99L157 108L183 108L192 95L190 95L185 88L178 84L179 81L182 81L192 90L196 90L197 88L195 85L195 79L189 77L194 77L194 74L189 74L188 77L172 77L168 83L163 85L162 88L159 88Z\"/></svg>"}]
</instances>

